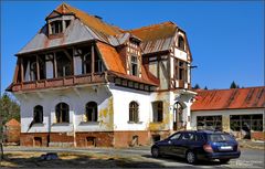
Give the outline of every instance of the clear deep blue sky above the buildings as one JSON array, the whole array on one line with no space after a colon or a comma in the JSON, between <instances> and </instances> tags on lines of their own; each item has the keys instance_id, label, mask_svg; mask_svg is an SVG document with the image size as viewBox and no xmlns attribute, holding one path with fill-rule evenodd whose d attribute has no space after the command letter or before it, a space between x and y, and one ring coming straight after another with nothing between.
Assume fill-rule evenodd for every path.
<instances>
[{"instance_id":1,"label":"clear deep blue sky above the buildings","mask_svg":"<svg viewBox=\"0 0 265 169\"><path fill-rule=\"evenodd\" d=\"M192 85L229 88L264 85L264 2L65 1L123 29L172 21L193 55ZM1 2L1 93L12 82L19 52L61 2Z\"/></svg>"}]
</instances>

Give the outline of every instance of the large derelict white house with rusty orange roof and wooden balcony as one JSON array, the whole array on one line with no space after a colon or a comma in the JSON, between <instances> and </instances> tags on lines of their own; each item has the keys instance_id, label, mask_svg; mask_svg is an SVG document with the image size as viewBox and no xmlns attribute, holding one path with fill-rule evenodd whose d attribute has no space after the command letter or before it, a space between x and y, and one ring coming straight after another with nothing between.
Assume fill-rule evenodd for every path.
<instances>
[{"instance_id":1,"label":"large derelict white house with rusty orange roof and wooden balcony","mask_svg":"<svg viewBox=\"0 0 265 169\"><path fill-rule=\"evenodd\" d=\"M191 52L172 22L135 30L68 4L17 53L22 146L149 145L191 127Z\"/></svg>"}]
</instances>

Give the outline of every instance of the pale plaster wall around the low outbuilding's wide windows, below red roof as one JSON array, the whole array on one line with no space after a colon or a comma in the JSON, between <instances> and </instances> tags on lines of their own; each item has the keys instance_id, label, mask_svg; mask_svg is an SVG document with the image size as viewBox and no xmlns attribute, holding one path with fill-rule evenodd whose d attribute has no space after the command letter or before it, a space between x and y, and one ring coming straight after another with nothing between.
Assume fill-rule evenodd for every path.
<instances>
[{"instance_id":1,"label":"pale plaster wall around the low outbuilding's wide windows, below red roof","mask_svg":"<svg viewBox=\"0 0 265 169\"><path fill-rule=\"evenodd\" d=\"M197 129L197 116L222 115L223 130L230 133L231 131L230 130L230 115L254 115L254 114L263 114L263 117L265 116L263 108L191 112L191 128ZM264 120L263 120L263 128L265 128Z\"/></svg>"}]
</instances>

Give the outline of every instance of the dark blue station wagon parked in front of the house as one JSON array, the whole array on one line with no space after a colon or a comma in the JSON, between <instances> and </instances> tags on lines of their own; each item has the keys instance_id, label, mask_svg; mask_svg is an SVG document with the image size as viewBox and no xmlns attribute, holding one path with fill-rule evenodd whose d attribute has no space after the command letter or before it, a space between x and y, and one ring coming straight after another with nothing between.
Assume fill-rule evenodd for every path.
<instances>
[{"instance_id":1,"label":"dark blue station wagon parked in front of the house","mask_svg":"<svg viewBox=\"0 0 265 169\"><path fill-rule=\"evenodd\" d=\"M230 159L240 158L241 151L233 136L221 131L178 131L151 147L152 157L163 155L186 158L187 162L219 159L226 163Z\"/></svg>"}]
</instances>

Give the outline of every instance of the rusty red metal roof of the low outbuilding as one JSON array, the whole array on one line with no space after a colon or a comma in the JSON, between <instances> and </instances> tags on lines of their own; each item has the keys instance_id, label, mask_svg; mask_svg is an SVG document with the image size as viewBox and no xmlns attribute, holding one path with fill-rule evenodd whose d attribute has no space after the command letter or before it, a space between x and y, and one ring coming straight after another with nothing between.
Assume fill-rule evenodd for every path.
<instances>
[{"instance_id":1,"label":"rusty red metal roof of the low outbuilding","mask_svg":"<svg viewBox=\"0 0 265 169\"><path fill-rule=\"evenodd\" d=\"M265 108L265 86L248 88L195 91L191 110Z\"/></svg>"}]
</instances>

